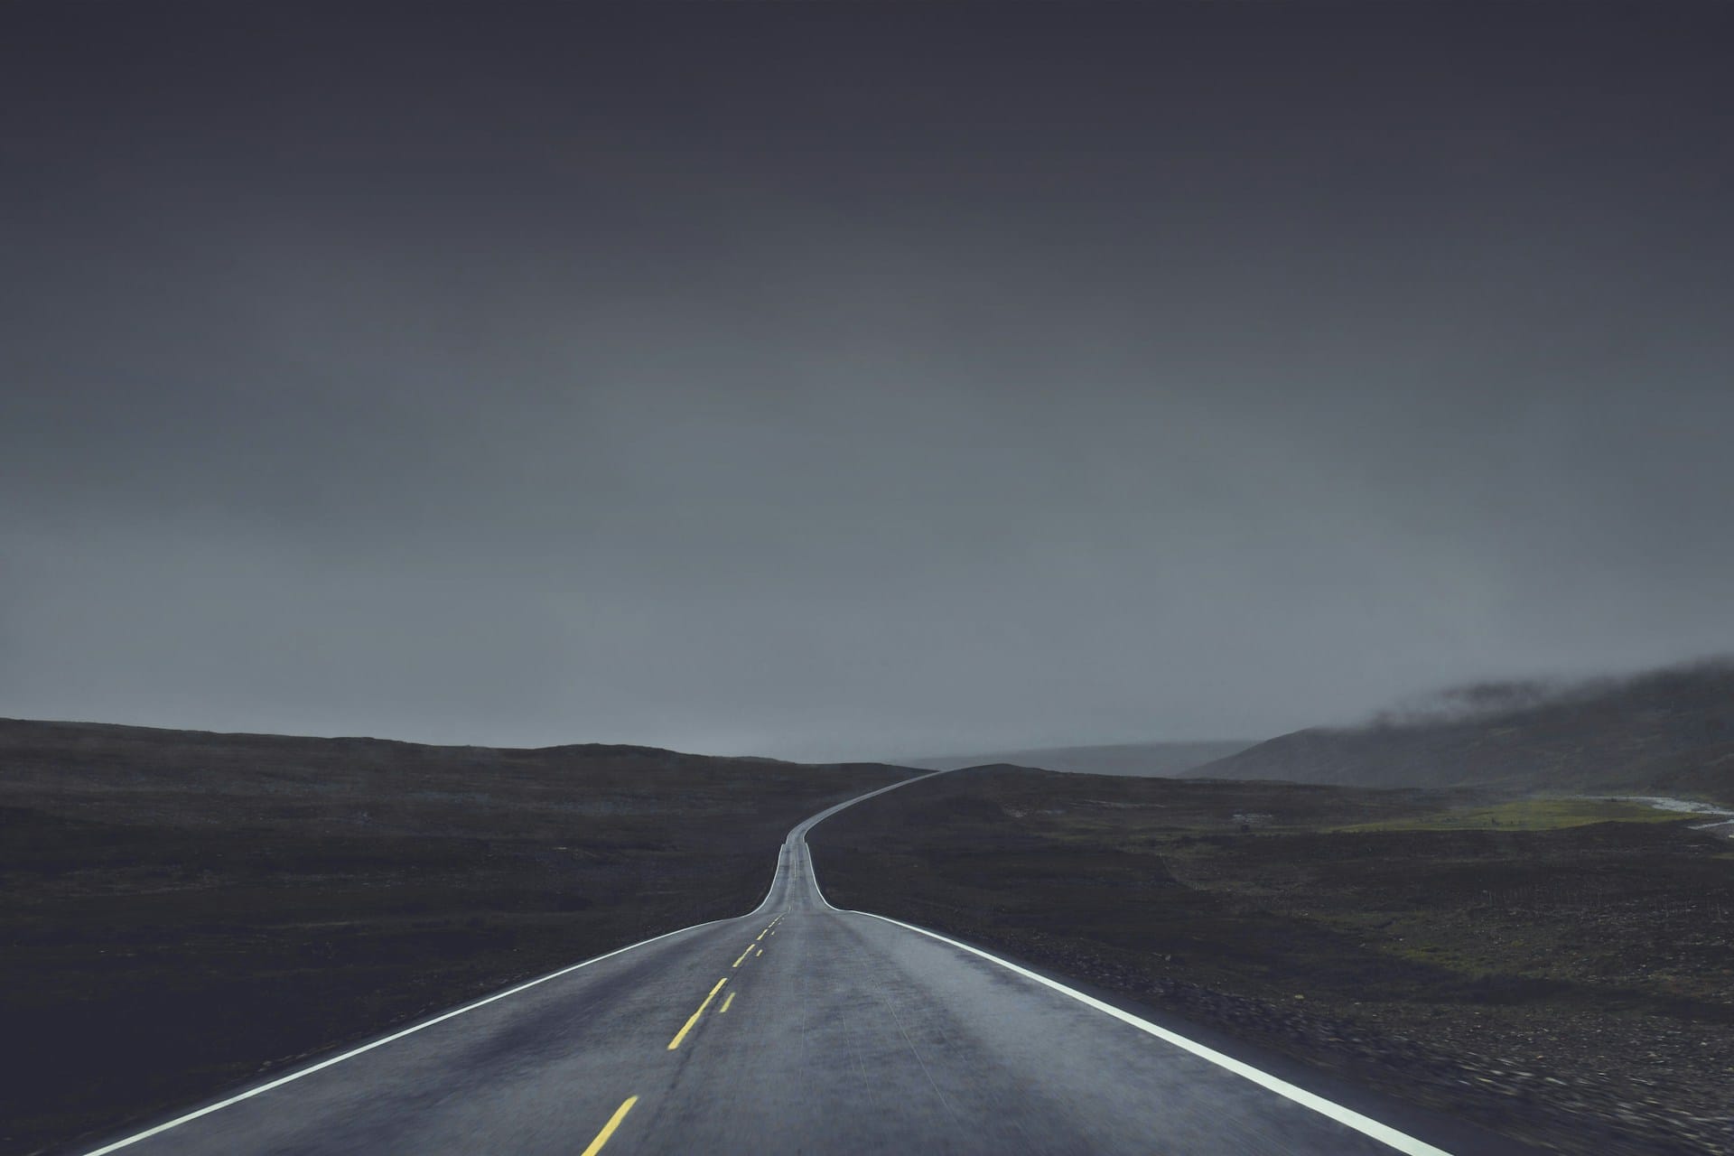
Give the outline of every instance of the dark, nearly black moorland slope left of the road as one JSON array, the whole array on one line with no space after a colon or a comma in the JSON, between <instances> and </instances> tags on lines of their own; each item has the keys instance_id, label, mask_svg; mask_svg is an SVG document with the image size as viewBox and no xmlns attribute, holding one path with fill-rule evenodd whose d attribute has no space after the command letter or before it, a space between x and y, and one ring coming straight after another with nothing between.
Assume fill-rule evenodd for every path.
<instances>
[{"instance_id":1,"label":"dark, nearly black moorland slope left of the road","mask_svg":"<svg viewBox=\"0 0 1734 1156\"><path fill-rule=\"evenodd\" d=\"M0 1151L739 915L905 775L0 721Z\"/></svg>"}]
</instances>

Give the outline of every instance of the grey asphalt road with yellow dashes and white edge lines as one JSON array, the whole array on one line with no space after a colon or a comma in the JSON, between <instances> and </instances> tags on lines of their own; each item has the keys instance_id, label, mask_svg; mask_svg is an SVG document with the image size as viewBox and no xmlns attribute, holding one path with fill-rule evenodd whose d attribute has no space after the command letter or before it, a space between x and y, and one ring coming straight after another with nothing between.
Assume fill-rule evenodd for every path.
<instances>
[{"instance_id":1,"label":"grey asphalt road with yellow dashes and white edge lines","mask_svg":"<svg viewBox=\"0 0 1734 1156\"><path fill-rule=\"evenodd\" d=\"M751 915L555 972L92 1156L1444 1151L1053 979L832 908L805 837L841 806L789 832Z\"/></svg>"}]
</instances>

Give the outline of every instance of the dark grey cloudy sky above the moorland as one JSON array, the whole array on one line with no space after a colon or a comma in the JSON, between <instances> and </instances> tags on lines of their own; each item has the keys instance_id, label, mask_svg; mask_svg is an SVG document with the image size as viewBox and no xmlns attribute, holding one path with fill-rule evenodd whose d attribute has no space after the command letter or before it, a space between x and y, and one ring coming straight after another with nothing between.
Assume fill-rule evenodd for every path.
<instances>
[{"instance_id":1,"label":"dark grey cloudy sky above the moorland","mask_svg":"<svg viewBox=\"0 0 1734 1156\"><path fill-rule=\"evenodd\" d=\"M0 7L0 714L791 757L1734 650L1734 9Z\"/></svg>"}]
</instances>

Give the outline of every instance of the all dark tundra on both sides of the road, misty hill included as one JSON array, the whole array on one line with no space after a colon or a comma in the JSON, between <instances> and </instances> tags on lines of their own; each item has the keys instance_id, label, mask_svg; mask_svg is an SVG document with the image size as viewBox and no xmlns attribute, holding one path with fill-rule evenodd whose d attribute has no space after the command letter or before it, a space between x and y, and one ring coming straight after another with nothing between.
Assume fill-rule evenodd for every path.
<instances>
[{"instance_id":1,"label":"all dark tundra on both sides of the road, misty hill included","mask_svg":"<svg viewBox=\"0 0 1734 1156\"><path fill-rule=\"evenodd\" d=\"M813 865L838 906L1538 1151L1734 1151L1734 667L1496 698L1186 778L957 770L827 820ZM24 721L0 744L0 990L40 1042L12 1153L739 915L796 820L919 773ZM1382 787L1228 776L1349 776L1368 744ZM1441 745L1455 773L1389 785Z\"/></svg>"}]
</instances>

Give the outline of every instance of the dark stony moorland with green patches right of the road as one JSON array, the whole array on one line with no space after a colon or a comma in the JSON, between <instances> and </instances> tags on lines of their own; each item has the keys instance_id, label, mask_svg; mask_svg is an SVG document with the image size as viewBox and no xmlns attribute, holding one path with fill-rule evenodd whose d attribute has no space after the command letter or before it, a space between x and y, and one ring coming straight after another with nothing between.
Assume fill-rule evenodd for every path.
<instances>
[{"instance_id":1,"label":"dark stony moorland with green patches right of the road","mask_svg":"<svg viewBox=\"0 0 1734 1156\"><path fill-rule=\"evenodd\" d=\"M810 837L838 906L1535 1144L1734 1153L1734 844L1484 790L957 771Z\"/></svg>"}]
</instances>

